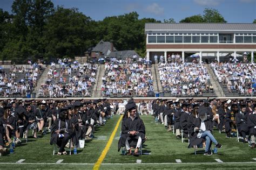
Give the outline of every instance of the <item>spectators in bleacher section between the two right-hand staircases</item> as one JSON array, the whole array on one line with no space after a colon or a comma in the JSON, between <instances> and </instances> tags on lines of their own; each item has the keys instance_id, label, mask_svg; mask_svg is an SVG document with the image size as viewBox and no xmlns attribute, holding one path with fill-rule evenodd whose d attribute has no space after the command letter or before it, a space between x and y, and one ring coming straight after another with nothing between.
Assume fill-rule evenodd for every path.
<instances>
[{"instance_id":1,"label":"spectators in bleacher section between the two right-hand staircases","mask_svg":"<svg viewBox=\"0 0 256 170\"><path fill-rule=\"evenodd\" d=\"M161 87L172 95L202 95L213 91L208 84L210 76L201 63L160 63L158 65Z\"/></svg>"}]
</instances>

